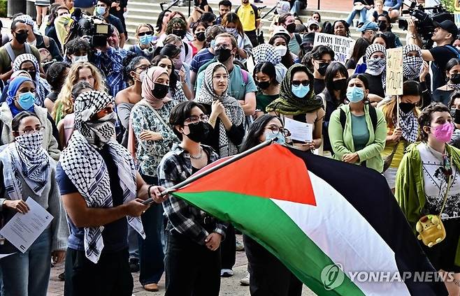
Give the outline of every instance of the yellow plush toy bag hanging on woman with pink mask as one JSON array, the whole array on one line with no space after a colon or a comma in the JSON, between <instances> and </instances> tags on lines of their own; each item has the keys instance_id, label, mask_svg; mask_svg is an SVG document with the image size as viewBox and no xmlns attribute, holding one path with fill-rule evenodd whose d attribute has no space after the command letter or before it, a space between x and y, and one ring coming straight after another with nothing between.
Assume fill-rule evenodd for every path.
<instances>
[{"instance_id":1,"label":"yellow plush toy bag hanging on woman with pink mask","mask_svg":"<svg viewBox=\"0 0 460 296\"><path fill-rule=\"evenodd\" d=\"M415 230L419 232L417 239L422 240L430 248L435 244L443 242L443 239L445 239L443 222L436 215L426 215L420 218L415 225Z\"/></svg>"}]
</instances>

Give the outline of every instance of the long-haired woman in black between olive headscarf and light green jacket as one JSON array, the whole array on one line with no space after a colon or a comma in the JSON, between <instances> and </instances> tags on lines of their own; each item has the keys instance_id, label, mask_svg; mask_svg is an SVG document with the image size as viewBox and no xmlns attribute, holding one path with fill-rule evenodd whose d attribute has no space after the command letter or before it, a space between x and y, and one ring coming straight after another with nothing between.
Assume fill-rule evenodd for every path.
<instances>
[{"instance_id":1,"label":"long-haired woman in black between olive headscarf and light green jacket","mask_svg":"<svg viewBox=\"0 0 460 296\"><path fill-rule=\"evenodd\" d=\"M321 94L317 95L317 98L322 99L324 110L326 111L323 118L322 148L319 148L319 154L322 152L323 156L332 156L331 141L329 140L329 133L327 132L329 128L329 119L331 119L332 112L345 102L345 98L347 97L347 79L348 72L345 66L336 61L332 62L331 65L327 67L326 74L324 75L326 88Z\"/></svg>"}]
</instances>

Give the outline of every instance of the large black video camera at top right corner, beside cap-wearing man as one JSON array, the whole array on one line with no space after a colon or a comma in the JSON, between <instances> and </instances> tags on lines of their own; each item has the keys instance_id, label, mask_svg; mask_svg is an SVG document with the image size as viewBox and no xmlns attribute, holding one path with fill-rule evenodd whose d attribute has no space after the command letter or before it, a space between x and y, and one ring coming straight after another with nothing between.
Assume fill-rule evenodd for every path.
<instances>
[{"instance_id":1,"label":"large black video camera at top right corner, beside cap-wearing man","mask_svg":"<svg viewBox=\"0 0 460 296\"><path fill-rule=\"evenodd\" d=\"M407 4L404 3L407 6ZM426 13L426 10L431 10L431 14ZM454 15L440 4L434 7L423 7L422 4L417 6L416 2L412 2L407 10L403 10L403 15L410 15L415 17L415 27L417 32L422 36L422 41L424 43L424 48L429 49L433 46L433 41L431 37L433 36L434 29L436 26L433 22L443 22L445 20L454 21ZM408 20L400 19L398 20L399 29L407 30L408 29Z\"/></svg>"}]
</instances>

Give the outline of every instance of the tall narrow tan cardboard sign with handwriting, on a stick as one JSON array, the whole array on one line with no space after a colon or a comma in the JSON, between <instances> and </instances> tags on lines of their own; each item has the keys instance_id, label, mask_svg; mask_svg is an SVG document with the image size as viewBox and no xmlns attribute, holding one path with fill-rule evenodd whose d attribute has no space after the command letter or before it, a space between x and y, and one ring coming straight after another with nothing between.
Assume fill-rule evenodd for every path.
<instances>
[{"instance_id":1,"label":"tall narrow tan cardboard sign with handwriting, on a stick","mask_svg":"<svg viewBox=\"0 0 460 296\"><path fill-rule=\"evenodd\" d=\"M387 96L403 94L403 47L387 50Z\"/></svg>"}]
</instances>

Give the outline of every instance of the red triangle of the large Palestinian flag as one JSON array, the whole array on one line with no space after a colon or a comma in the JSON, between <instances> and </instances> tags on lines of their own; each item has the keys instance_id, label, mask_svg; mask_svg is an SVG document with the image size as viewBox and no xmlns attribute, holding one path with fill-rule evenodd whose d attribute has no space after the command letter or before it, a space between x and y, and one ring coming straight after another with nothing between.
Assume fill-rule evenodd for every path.
<instances>
[{"instance_id":1,"label":"red triangle of the large Palestinian flag","mask_svg":"<svg viewBox=\"0 0 460 296\"><path fill-rule=\"evenodd\" d=\"M221 159L220 162L224 160ZM217 163L212 163L201 171ZM228 191L316 205L306 163L289 149L278 144L255 151L178 191Z\"/></svg>"}]
</instances>

